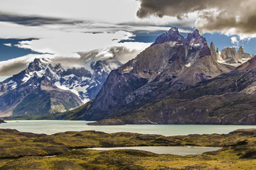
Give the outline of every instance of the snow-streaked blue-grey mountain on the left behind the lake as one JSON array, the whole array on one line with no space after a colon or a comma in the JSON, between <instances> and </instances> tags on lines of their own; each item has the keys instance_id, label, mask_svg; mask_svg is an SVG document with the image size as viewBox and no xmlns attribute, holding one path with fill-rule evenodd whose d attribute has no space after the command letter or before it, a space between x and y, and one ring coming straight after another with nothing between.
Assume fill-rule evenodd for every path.
<instances>
[{"instance_id":1,"label":"snow-streaked blue-grey mountain on the left behind the lake","mask_svg":"<svg viewBox=\"0 0 256 170\"><path fill-rule=\"evenodd\" d=\"M0 83L0 116L47 115L81 106L97 95L110 71L119 65L99 60L92 62L92 71L88 71L35 59Z\"/></svg>"}]
</instances>

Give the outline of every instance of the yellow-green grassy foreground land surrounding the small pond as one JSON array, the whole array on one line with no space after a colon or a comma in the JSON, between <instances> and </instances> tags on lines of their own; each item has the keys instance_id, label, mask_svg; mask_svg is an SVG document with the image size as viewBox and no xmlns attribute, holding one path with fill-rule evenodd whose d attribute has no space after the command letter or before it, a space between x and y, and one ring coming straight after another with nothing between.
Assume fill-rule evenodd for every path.
<instances>
[{"instance_id":1,"label":"yellow-green grassy foreground land surrounding the small pond","mask_svg":"<svg viewBox=\"0 0 256 170\"><path fill-rule=\"evenodd\" d=\"M129 132L61 132L54 135L0 130L0 169L256 169L256 130L227 135L164 137ZM137 150L88 150L127 146L223 147L200 155L177 156Z\"/></svg>"}]
</instances>

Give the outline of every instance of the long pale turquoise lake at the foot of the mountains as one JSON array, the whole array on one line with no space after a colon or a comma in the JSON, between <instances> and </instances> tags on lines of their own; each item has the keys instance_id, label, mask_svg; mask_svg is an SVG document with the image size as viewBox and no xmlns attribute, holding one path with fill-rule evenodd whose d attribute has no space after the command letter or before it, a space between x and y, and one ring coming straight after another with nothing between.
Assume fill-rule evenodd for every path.
<instances>
[{"instance_id":1,"label":"long pale turquoise lake at the foot of the mountains","mask_svg":"<svg viewBox=\"0 0 256 170\"><path fill-rule=\"evenodd\" d=\"M137 132L164 136L189 134L227 134L233 130L256 128L256 125L87 125L83 120L10 120L0 128L16 129L21 132L45 133L96 130L101 132Z\"/></svg>"}]
</instances>

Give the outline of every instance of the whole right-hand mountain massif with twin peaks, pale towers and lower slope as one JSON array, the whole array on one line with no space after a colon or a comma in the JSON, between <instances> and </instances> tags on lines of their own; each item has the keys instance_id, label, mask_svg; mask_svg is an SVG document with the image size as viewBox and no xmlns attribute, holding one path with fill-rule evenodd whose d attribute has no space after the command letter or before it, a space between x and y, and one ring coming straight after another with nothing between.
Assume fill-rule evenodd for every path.
<instances>
[{"instance_id":1,"label":"whole right-hand mountain massif with twin peaks, pale towers and lower slope","mask_svg":"<svg viewBox=\"0 0 256 170\"><path fill-rule=\"evenodd\" d=\"M198 30L183 38L171 28L113 70L93 101L61 117L100 125L255 124L251 57L242 47L218 52Z\"/></svg>"}]
</instances>

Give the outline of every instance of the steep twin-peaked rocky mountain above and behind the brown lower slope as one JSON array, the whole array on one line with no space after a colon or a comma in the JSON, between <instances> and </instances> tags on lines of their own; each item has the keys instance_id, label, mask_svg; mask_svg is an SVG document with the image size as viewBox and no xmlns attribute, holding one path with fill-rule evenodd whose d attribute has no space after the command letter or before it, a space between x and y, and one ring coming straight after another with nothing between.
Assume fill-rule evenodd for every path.
<instances>
[{"instance_id":1,"label":"steep twin-peaked rocky mountain above and behind the brown lower slope","mask_svg":"<svg viewBox=\"0 0 256 170\"><path fill-rule=\"evenodd\" d=\"M234 69L219 63L218 53L215 51L213 54L213 51L214 45L209 48L198 30L183 38L176 28L171 28L134 60L110 73L84 118L100 120L124 116L128 121L132 110L136 112L152 106L152 103L178 91L191 89ZM129 123L150 123L155 120L147 115L136 116L143 118Z\"/></svg>"}]
</instances>

